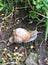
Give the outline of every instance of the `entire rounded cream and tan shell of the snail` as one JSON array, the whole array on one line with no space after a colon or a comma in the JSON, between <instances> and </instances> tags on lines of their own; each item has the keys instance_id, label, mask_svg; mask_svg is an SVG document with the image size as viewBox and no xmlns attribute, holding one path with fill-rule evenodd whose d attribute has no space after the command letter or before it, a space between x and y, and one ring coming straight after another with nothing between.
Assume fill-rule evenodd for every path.
<instances>
[{"instance_id":1,"label":"entire rounded cream and tan shell of the snail","mask_svg":"<svg viewBox=\"0 0 48 65\"><path fill-rule=\"evenodd\" d=\"M30 39L30 32L23 28L13 30L14 42L22 43Z\"/></svg>"}]
</instances>

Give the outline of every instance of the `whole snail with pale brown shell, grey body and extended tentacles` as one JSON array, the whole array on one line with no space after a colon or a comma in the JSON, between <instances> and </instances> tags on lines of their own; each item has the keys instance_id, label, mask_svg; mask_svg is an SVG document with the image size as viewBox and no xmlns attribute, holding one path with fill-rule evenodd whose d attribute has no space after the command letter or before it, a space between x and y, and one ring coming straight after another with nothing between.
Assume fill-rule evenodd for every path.
<instances>
[{"instance_id":1,"label":"whole snail with pale brown shell, grey body and extended tentacles","mask_svg":"<svg viewBox=\"0 0 48 65\"><path fill-rule=\"evenodd\" d=\"M24 28L17 28L13 30L13 37L9 39L9 41L14 41L15 43L22 43L22 42L30 42L34 41L37 38L37 34L42 33L38 32L36 29L34 31L28 31Z\"/></svg>"}]
</instances>

